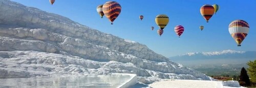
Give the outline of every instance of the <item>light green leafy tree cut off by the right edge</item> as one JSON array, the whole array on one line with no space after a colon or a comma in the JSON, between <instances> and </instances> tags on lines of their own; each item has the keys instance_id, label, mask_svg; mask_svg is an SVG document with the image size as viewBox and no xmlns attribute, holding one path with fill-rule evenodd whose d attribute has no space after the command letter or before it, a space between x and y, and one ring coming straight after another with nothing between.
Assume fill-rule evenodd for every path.
<instances>
[{"instance_id":1,"label":"light green leafy tree cut off by the right edge","mask_svg":"<svg viewBox=\"0 0 256 88\"><path fill-rule=\"evenodd\" d=\"M249 65L247 70L250 75L250 80L256 82L256 60L247 62L247 65Z\"/></svg>"}]
</instances>

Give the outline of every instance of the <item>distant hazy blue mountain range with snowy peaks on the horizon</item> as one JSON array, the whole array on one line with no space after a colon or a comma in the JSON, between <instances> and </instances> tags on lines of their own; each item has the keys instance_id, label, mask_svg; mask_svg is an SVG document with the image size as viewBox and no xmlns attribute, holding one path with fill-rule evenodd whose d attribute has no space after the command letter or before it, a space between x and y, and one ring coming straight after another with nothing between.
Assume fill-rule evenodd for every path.
<instances>
[{"instance_id":1,"label":"distant hazy blue mountain range with snowy peaks on the horizon","mask_svg":"<svg viewBox=\"0 0 256 88\"><path fill-rule=\"evenodd\" d=\"M256 51L223 50L216 52L187 53L169 58L182 64L246 63L256 59Z\"/></svg>"}]
</instances>

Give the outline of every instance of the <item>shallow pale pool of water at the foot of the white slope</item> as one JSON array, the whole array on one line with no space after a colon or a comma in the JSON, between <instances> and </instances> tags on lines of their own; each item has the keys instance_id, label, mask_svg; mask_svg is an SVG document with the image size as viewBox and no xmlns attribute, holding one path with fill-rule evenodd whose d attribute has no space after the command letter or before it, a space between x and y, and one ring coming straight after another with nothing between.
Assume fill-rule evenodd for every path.
<instances>
[{"instance_id":1,"label":"shallow pale pool of water at the foot of the white slope","mask_svg":"<svg viewBox=\"0 0 256 88\"><path fill-rule=\"evenodd\" d=\"M47 78L9 78L0 79L0 87L118 87L129 75L95 75Z\"/></svg>"}]
</instances>

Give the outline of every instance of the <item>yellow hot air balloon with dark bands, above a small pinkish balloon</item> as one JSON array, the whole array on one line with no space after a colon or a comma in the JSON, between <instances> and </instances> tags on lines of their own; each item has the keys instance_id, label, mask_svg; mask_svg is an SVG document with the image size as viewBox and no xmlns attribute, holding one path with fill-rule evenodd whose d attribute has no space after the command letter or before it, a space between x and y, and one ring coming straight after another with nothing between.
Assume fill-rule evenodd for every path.
<instances>
[{"instance_id":1,"label":"yellow hot air balloon with dark bands, above a small pinkish balloon","mask_svg":"<svg viewBox=\"0 0 256 88\"><path fill-rule=\"evenodd\" d=\"M167 15L161 14L157 15L156 19L156 24L160 29L164 29L164 27L168 24L169 22L169 17Z\"/></svg>"}]
</instances>

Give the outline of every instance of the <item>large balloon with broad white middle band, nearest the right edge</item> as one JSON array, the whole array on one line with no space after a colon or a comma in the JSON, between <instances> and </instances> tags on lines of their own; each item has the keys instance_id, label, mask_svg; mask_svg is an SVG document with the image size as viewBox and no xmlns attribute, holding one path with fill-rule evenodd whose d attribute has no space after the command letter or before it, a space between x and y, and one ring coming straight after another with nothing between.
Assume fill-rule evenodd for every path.
<instances>
[{"instance_id":1,"label":"large balloon with broad white middle band, nearest the right edge","mask_svg":"<svg viewBox=\"0 0 256 88\"><path fill-rule=\"evenodd\" d=\"M228 31L233 39L241 46L249 32L249 24L244 20L234 20L229 24Z\"/></svg>"}]
</instances>

